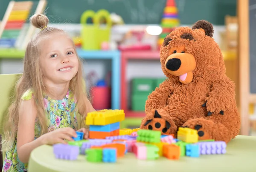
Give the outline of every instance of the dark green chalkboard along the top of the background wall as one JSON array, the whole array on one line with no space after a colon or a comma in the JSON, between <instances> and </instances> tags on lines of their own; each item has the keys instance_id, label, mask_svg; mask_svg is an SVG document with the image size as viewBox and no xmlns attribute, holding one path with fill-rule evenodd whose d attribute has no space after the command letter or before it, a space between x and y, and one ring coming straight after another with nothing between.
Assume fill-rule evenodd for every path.
<instances>
[{"instance_id":1,"label":"dark green chalkboard along the top of the background wall","mask_svg":"<svg viewBox=\"0 0 256 172\"><path fill-rule=\"evenodd\" d=\"M9 1L0 0L0 19ZM79 23L83 11L107 9L121 15L126 24L160 24L165 4L166 0L48 0L46 14L52 23ZM183 25L202 19L224 25L225 15L236 15L236 0L176 0L176 4Z\"/></svg>"}]
</instances>

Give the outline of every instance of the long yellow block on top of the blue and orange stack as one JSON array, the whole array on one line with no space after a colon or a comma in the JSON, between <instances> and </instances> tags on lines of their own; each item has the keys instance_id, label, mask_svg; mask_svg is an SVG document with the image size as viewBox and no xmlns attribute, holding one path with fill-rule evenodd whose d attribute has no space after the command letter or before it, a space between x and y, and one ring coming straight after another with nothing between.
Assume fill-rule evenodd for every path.
<instances>
[{"instance_id":1,"label":"long yellow block on top of the blue and orange stack","mask_svg":"<svg viewBox=\"0 0 256 172\"><path fill-rule=\"evenodd\" d=\"M124 110L103 109L100 111L87 113L85 124L105 126L111 123L120 122L122 120L125 120Z\"/></svg>"}]
</instances>

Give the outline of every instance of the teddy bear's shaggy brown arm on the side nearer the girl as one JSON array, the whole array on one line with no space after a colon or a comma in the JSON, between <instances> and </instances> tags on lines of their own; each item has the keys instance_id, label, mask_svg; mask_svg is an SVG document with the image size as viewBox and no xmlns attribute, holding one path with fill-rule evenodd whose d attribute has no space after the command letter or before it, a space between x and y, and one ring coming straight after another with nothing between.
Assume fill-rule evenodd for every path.
<instances>
[{"instance_id":1,"label":"teddy bear's shaggy brown arm on the side nearer the girl","mask_svg":"<svg viewBox=\"0 0 256 172\"><path fill-rule=\"evenodd\" d=\"M172 84L169 80L165 80L148 95L148 99L145 103L145 113L150 113L152 109L162 109L166 107L169 104L167 103L168 97L170 97L172 93Z\"/></svg>"}]
</instances>

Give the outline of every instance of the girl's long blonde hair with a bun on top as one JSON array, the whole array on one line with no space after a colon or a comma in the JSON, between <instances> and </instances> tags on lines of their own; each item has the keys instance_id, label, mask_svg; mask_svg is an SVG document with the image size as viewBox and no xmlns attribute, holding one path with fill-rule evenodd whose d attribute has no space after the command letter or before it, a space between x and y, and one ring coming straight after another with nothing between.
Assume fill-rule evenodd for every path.
<instances>
[{"instance_id":1,"label":"girl's long blonde hair with a bun on top","mask_svg":"<svg viewBox=\"0 0 256 172\"><path fill-rule=\"evenodd\" d=\"M23 75L17 82L15 101L9 107L9 116L7 117L4 126L4 139L3 139L3 150L8 151L15 141L17 135L17 126L19 120L19 105L22 95L28 90L32 89L33 97L37 108L37 118L41 126L41 135L47 133L47 118L44 109L43 92L47 90L42 80L42 71L39 63L40 57L40 42L47 36L56 32L65 33L61 29L54 27L47 27L49 19L43 14L34 14L30 18L30 22L33 26L41 29L41 31L33 37L27 47L24 57L24 70ZM73 42L73 41L72 41ZM75 47L74 43L73 46ZM76 50L75 50L76 51ZM77 52L75 52L77 55ZM78 57L78 55L77 55ZM86 89L85 82L82 77L82 64L79 60L79 69L77 74L70 80L70 90L73 92L77 100L77 108L81 115L79 121L80 126L84 126L84 118L86 116ZM79 118L78 118L79 119ZM76 125L75 125L76 126Z\"/></svg>"}]
</instances>

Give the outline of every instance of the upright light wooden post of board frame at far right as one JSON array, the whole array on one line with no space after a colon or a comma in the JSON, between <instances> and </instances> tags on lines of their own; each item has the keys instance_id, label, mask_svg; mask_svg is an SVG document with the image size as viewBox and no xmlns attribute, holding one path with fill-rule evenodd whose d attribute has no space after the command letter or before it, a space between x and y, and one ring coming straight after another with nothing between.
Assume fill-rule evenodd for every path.
<instances>
[{"instance_id":1,"label":"upright light wooden post of board frame at far right","mask_svg":"<svg viewBox=\"0 0 256 172\"><path fill-rule=\"evenodd\" d=\"M250 54L249 54L249 0L237 0L239 23L239 110L241 116L241 135L249 135L249 103L253 96L250 94ZM256 100L256 99L255 99ZM256 102L256 101L254 101Z\"/></svg>"}]
</instances>

